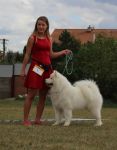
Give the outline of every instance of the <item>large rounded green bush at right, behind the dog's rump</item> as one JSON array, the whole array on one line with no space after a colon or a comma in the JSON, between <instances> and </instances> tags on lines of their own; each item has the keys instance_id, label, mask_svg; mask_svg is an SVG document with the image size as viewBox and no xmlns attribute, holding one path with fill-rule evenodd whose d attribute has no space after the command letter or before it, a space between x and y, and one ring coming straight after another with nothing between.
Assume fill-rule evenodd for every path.
<instances>
[{"instance_id":1,"label":"large rounded green bush at right, behind the dog's rump","mask_svg":"<svg viewBox=\"0 0 117 150\"><path fill-rule=\"evenodd\" d=\"M95 43L82 45L78 55L79 78L97 81L105 98L117 102L117 41L98 36Z\"/></svg>"}]
</instances>

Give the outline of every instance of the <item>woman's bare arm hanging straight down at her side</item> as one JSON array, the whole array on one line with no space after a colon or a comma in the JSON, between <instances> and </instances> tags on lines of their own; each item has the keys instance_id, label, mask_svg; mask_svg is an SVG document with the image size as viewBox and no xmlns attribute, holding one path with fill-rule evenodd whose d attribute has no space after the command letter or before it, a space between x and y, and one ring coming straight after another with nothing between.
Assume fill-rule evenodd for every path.
<instances>
[{"instance_id":1,"label":"woman's bare arm hanging straight down at her side","mask_svg":"<svg viewBox=\"0 0 117 150\"><path fill-rule=\"evenodd\" d=\"M24 60L23 60L23 63L22 63L22 68L21 68L21 73L20 73L21 76L25 75L25 68L26 68L26 65L29 62L33 44L34 44L34 37L30 36L29 39L28 39L28 42L27 42L26 53L25 53Z\"/></svg>"}]
</instances>

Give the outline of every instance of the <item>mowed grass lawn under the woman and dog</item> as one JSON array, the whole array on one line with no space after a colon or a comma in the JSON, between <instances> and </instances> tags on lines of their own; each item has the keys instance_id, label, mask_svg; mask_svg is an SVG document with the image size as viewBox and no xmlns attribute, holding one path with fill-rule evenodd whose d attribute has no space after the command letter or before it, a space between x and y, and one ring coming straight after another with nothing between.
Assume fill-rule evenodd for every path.
<instances>
[{"instance_id":1,"label":"mowed grass lawn under the woman and dog","mask_svg":"<svg viewBox=\"0 0 117 150\"><path fill-rule=\"evenodd\" d=\"M36 102L30 118L35 117ZM0 150L117 150L117 108L103 108L103 126L94 120L72 122L69 127L21 124L23 100L0 100ZM92 118L86 110L73 112L74 118ZM54 118L52 106L45 106L43 119ZM11 122L4 122L11 120ZM19 122L13 122L20 120Z\"/></svg>"}]
</instances>

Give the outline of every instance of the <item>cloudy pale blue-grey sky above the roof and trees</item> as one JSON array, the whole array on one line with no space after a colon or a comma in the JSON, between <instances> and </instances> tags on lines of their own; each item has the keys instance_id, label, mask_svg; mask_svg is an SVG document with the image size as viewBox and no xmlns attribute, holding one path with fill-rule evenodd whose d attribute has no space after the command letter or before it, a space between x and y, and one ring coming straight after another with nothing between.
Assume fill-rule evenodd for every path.
<instances>
[{"instance_id":1,"label":"cloudy pale blue-grey sky above the roof and trees","mask_svg":"<svg viewBox=\"0 0 117 150\"><path fill-rule=\"evenodd\" d=\"M23 52L39 16L54 29L117 29L117 0L0 0L0 39L6 51ZM0 40L2 50L2 40Z\"/></svg>"}]
</instances>

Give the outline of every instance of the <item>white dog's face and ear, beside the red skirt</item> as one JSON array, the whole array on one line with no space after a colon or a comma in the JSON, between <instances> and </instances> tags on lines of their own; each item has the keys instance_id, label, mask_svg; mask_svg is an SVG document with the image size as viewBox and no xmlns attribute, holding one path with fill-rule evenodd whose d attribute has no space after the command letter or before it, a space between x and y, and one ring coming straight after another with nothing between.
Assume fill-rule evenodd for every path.
<instances>
[{"instance_id":1,"label":"white dog's face and ear, beside the red skirt","mask_svg":"<svg viewBox=\"0 0 117 150\"><path fill-rule=\"evenodd\" d=\"M52 87L55 82L55 78L57 77L57 71L54 70L53 73L50 74L50 77L45 79L45 83L48 87Z\"/></svg>"}]
</instances>

